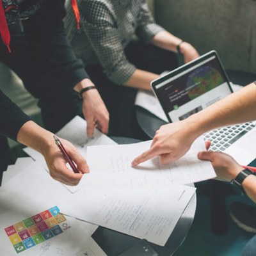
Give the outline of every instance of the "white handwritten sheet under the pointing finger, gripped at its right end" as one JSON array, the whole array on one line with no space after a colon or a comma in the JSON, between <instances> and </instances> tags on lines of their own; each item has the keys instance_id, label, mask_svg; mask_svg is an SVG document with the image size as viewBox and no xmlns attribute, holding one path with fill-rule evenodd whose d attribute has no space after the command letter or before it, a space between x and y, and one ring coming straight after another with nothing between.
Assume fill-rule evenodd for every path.
<instances>
[{"instance_id":1,"label":"white handwritten sheet under the pointing finger, gripped at its right end","mask_svg":"<svg viewBox=\"0 0 256 256\"><path fill-rule=\"evenodd\" d=\"M196 139L189 151L179 160L161 164L154 157L132 168L131 162L150 147L151 141L129 145L109 145L88 147L87 161L91 172L127 173L143 184L189 184L212 179L216 173L209 161L200 161L197 153L205 150L204 139ZM128 178L128 176L127 176Z\"/></svg>"}]
</instances>

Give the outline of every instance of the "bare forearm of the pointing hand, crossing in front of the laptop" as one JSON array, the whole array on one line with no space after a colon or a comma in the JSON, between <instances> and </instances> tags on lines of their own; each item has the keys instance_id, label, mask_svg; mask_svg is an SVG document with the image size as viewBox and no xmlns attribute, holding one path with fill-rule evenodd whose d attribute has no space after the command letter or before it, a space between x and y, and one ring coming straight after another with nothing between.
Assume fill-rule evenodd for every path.
<instances>
[{"instance_id":1,"label":"bare forearm of the pointing hand, crossing in front of the laptop","mask_svg":"<svg viewBox=\"0 0 256 256\"><path fill-rule=\"evenodd\" d=\"M252 83L190 116L186 122L198 136L218 127L256 120L255 99L256 85Z\"/></svg>"}]
</instances>

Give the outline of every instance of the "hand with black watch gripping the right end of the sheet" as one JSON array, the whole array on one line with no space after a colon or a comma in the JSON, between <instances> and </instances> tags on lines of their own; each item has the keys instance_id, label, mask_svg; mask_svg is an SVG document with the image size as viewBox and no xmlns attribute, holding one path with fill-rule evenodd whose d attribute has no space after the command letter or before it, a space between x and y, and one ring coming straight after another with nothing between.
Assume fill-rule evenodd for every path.
<instances>
[{"instance_id":1,"label":"hand with black watch gripping the right end of the sheet","mask_svg":"<svg viewBox=\"0 0 256 256\"><path fill-rule=\"evenodd\" d=\"M208 150L210 141L206 141L205 146ZM217 179L223 181L230 181L236 178L237 174L244 169L232 156L222 152L202 151L198 153L198 159L211 161Z\"/></svg>"}]
</instances>

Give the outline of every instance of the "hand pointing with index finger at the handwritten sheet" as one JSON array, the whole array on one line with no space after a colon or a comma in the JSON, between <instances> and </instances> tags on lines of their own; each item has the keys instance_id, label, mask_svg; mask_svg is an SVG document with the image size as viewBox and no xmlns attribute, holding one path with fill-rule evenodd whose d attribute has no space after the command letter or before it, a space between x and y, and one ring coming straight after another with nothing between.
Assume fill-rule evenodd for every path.
<instances>
[{"instance_id":1,"label":"hand pointing with index finger at the handwritten sheet","mask_svg":"<svg viewBox=\"0 0 256 256\"><path fill-rule=\"evenodd\" d=\"M160 156L162 164L179 159L188 152L197 137L196 132L192 131L192 126L193 124L188 120L161 126L156 131L150 149L136 157L132 161L132 166L143 163L155 156Z\"/></svg>"}]
</instances>

